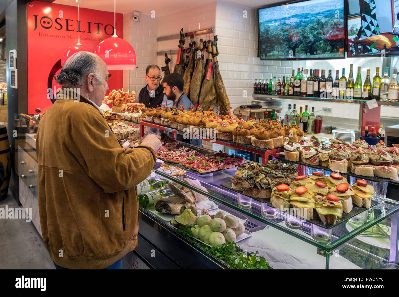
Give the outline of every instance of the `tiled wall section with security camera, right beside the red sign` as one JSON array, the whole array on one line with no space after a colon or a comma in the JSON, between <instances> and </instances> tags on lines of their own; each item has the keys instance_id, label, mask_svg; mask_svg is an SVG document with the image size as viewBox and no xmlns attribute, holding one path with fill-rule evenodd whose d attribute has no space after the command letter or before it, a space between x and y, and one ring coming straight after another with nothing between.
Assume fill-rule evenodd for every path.
<instances>
[{"instance_id":1,"label":"tiled wall section with security camera, right beside the red sign","mask_svg":"<svg viewBox=\"0 0 399 297\"><path fill-rule=\"evenodd\" d=\"M157 64L157 42L158 18L151 18L144 14L140 15L140 22L133 22L131 14L124 14L124 28L128 27L128 31L124 32L124 36L129 39L130 44L136 52L137 63L136 69L124 71L123 73L123 89L135 90L138 94L140 89L147 83L144 79L146 67L149 64Z\"/></svg>"}]
</instances>

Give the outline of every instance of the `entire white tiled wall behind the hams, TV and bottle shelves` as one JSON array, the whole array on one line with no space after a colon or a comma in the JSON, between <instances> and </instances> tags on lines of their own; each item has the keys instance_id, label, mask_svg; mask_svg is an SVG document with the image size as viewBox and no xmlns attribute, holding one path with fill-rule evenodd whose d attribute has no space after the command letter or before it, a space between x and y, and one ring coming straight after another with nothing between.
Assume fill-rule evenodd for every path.
<instances>
[{"instance_id":1,"label":"entire white tiled wall behind the hams, TV and bottle shelves","mask_svg":"<svg viewBox=\"0 0 399 297\"><path fill-rule=\"evenodd\" d=\"M219 68L231 105L237 107L250 104L254 99L252 94L255 79L272 79L273 76L281 77L282 79L283 76L291 76L294 66L308 67L307 64L299 65L298 61L261 61L257 57L257 22L257 10L219 1L156 18L142 15L140 16L140 22L133 22L130 14L124 14L124 37L125 39L129 38L126 40L130 40L136 51L136 67L138 68L134 71L124 71L123 88L130 88L130 90L138 92L146 85L144 79L146 66L153 63L160 67L165 65L164 55L157 56L156 52L168 52L168 50L178 48L178 38L157 41L156 37L178 34L182 27L185 32L213 27L215 28L215 35L218 36L219 55L217 59ZM197 45L200 38L213 40L213 35L195 36ZM190 43L190 37L186 37L185 47L188 47L188 43ZM168 56L172 60L169 63L169 68L173 72L176 64L176 55L168 53ZM207 54L205 53L206 58ZM320 61L322 62L322 60L318 62ZM338 60L334 60L334 65L336 61ZM327 63L328 61L325 62ZM349 62L354 63L352 61ZM317 66L322 67L320 63ZM161 73L161 75L164 76L164 73ZM347 119L346 121L337 120L338 124L342 125L341 128L353 128L348 119L356 122L359 118L359 104L280 100L282 112L279 116L284 115L288 109L288 104L296 104L298 111L299 106L304 108L305 105L308 105L309 111L314 106L317 115L324 116L326 121L328 120L332 123L334 122L331 120L332 118ZM332 108L332 111L323 111L322 108L326 106ZM381 106L381 116L398 117L398 115L399 107ZM355 126L356 129L357 125Z\"/></svg>"}]
</instances>

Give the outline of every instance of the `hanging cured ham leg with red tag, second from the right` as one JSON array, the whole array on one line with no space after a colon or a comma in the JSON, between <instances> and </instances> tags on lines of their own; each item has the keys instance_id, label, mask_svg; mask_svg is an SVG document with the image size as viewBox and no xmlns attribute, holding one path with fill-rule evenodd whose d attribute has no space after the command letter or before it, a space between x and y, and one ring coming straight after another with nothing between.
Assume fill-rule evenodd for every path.
<instances>
[{"instance_id":1,"label":"hanging cured ham leg with red tag, second from the right","mask_svg":"<svg viewBox=\"0 0 399 297\"><path fill-rule=\"evenodd\" d=\"M208 40L208 59L206 60L205 73L201 91L199 92L199 104L204 110L208 110L216 103L216 90L215 86L213 85L212 76L212 43L213 42L211 40Z\"/></svg>"}]
</instances>

